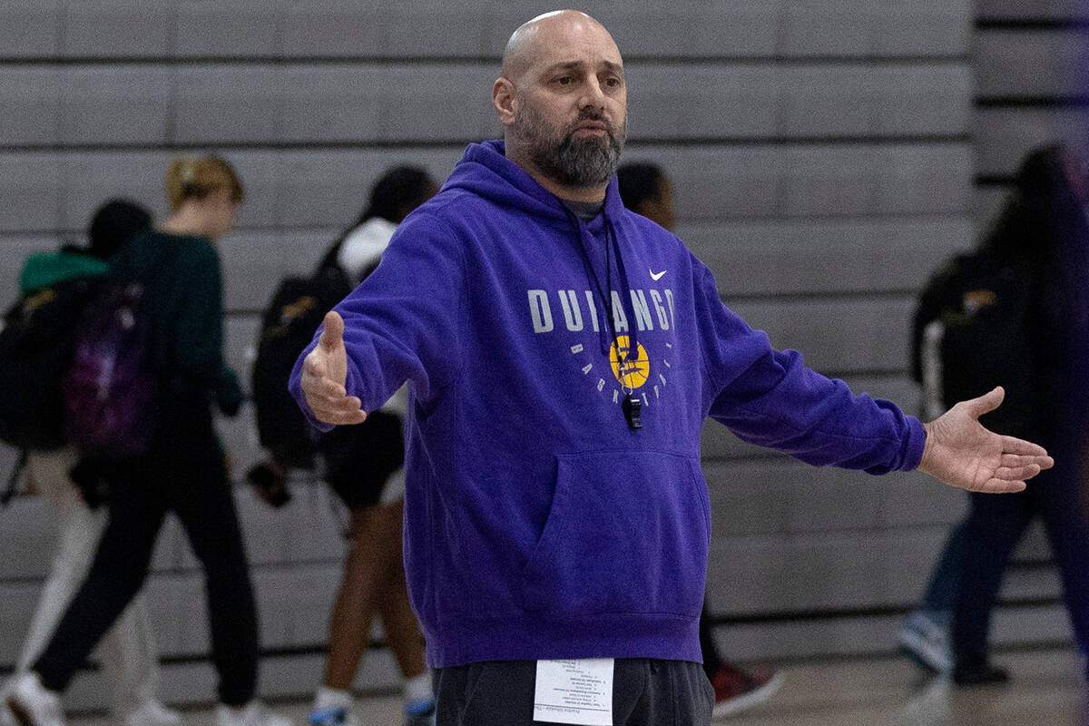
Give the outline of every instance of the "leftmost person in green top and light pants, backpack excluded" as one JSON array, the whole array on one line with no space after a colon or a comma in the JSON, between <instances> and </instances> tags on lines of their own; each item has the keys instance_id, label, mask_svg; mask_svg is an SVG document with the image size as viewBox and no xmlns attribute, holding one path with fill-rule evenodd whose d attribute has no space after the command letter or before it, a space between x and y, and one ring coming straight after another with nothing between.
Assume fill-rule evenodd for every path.
<instances>
[{"instance_id":1,"label":"leftmost person in green top and light pants, backpack excluded","mask_svg":"<svg viewBox=\"0 0 1089 726\"><path fill-rule=\"evenodd\" d=\"M110 259L150 225L150 213L139 205L123 199L106 202L91 218L86 247L64 245L59 251L36 253L26 259L20 273L21 295L27 297L38 291L81 284L82 300L77 305L85 304L106 278ZM53 299L59 298L52 297L50 302ZM71 446L27 452L28 490L42 496L56 510L58 546L15 663L15 674L0 689L3 701L15 680L28 673L41 655L64 608L86 578L106 529L106 509L98 506L100 493L81 491L69 476L75 463L76 454ZM102 637L99 649L110 689L111 713L118 723L124 726L180 723L178 712L158 699L159 654L143 592L133 598ZM0 709L4 721L11 723L7 704Z\"/></svg>"}]
</instances>

